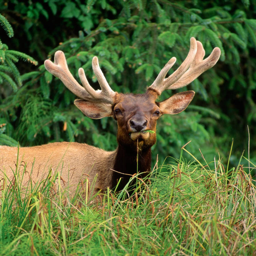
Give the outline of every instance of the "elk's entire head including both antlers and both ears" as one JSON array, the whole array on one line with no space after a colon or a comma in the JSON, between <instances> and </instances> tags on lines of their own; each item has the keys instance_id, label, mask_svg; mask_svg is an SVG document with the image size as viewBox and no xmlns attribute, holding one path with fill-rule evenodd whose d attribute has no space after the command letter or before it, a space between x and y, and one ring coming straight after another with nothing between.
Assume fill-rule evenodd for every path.
<instances>
[{"instance_id":1,"label":"elk's entire head including both antlers and both ears","mask_svg":"<svg viewBox=\"0 0 256 256\"><path fill-rule=\"evenodd\" d=\"M117 120L119 145L131 150L137 150L137 147L143 150L150 148L156 142L158 118L163 114L182 112L193 99L194 92L177 93L162 102L156 101L158 96L166 89L186 86L201 73L213 67L220 57L220 49L214 48L209 57L203 60L204 55L202 43L191 38L188 56L179 68L165 78L176 61L175 57L171 58L146 93L137 95L114 92L99 67L97 57L93 58L92 67L101 90L94 90L88 83L83 68L79 68L82 87L68 70L62 51L55 53L54 63L46 60L44 65L80 98L74 103L86 116L94 119L112 116Z\"/></svg>"}]
</instances>

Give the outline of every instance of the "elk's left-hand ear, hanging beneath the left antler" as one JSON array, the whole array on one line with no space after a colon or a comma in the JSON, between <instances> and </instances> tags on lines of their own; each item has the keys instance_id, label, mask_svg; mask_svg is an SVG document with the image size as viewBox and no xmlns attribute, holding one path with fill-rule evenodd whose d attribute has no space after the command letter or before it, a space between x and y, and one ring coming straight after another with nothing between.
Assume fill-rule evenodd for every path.
<instances>
[{"instance_id":1,"label":"elk's left-hand ear, hanging beneath the left antler","mask_svg":"<svg viewBox=\"0 0 256 256\"><path fill-rule=\"evenodd\" d=\"M82 99L76 99L74 103L89 118L100 119L112 115L112 105L108 103L89 102Z\"/></svg>"}]
</instances>

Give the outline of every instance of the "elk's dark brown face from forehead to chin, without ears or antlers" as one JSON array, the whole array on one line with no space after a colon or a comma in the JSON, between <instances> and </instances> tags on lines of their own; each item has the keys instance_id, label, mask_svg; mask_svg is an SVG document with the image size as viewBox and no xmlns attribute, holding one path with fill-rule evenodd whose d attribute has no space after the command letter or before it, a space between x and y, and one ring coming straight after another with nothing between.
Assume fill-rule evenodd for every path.
<instances>
[{"instance_id":1,"label":"elk's dark brown face from forehead to chin, without ears or antlers","mask_svg":"<svg viewBox=\"0 0 256 256\"><path fill-rule=\"evenodd\" d=\"M154 97L149 93L118 94L117 99L113 117L118 124L118 143L134 150L137 146L139 149L152 147L156 142L156 122L161 113Z\"/></svg>"}]
</instances>

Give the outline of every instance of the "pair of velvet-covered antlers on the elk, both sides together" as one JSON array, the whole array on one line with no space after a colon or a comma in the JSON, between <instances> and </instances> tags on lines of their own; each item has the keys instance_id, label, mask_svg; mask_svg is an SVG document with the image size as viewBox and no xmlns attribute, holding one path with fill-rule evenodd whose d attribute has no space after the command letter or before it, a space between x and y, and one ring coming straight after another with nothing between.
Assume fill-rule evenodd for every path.
<instances>
[{"instance_id":1,"label":"pair of velvet-covered antlers on the elk, both sides together","mask_svg":"<svg viewBox=\"0 0 256 256\"><path fill-rule=\"evenodd\" d=\"M191 83L200 74L215 65L220 57L220 49L215 47L208 58L203 60L204 55L205 50L203 49L202 43L192 37L190 39L188 56L178 69L168 78L165 78L170 68L172 68L173 64L176 62L175 57L171 58L148 89L153 89L160 95L166 89L177 89ZM83 84L82 87L70 73L65 55L62 51L55 53L54 63L50 60L46 60L44 65L50 73L58 77L64 85L79 98L93 102L114 103L116 92L110 88L104 77L99 67L97 57L93 57L92 66L101 90L94 90L88 83L83 68L79 68L78 74Z\"/></svg>"}]
</instances>

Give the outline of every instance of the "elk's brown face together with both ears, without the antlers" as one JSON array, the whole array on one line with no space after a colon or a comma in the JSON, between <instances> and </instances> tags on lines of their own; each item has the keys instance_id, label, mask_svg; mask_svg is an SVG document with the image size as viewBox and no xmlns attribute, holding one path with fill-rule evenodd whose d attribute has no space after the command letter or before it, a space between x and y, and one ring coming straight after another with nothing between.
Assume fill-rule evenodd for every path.
<instances>
[{"instance_id":1,"label":"elk's brown face together with both ears, without the antlers","mask_svg":"<svg viewBox=\"0 0 256 256\"><path fill-rule=\"evenodd\" d=\"M137 95L116 93L112 105L81 99L75 100L75 105L90 118L113 116L118 124L118 143L132 150L143 150L156 143L158 118L163 114L182 112L193 99L194 92L176 93L162 102L156 102L157 97L158 93L148 89Z\"/></svg>"}]
</instances>

